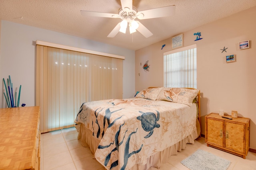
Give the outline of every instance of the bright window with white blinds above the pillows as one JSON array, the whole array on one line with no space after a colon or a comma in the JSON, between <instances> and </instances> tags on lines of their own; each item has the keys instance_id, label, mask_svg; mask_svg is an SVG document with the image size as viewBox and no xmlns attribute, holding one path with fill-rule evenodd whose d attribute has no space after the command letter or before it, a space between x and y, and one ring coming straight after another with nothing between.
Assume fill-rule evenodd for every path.
<instances>
[{"instance_id":1,"label":"bright window with white blinds above the pillows","mask_svg":"<svg viewBox=\"0 0 256 170\"><path fill-rule=\"evenodd\" d=\"M196 44L164 53L164 87L196 88Z\"/></svg>"}]
</instances>

